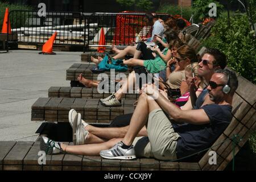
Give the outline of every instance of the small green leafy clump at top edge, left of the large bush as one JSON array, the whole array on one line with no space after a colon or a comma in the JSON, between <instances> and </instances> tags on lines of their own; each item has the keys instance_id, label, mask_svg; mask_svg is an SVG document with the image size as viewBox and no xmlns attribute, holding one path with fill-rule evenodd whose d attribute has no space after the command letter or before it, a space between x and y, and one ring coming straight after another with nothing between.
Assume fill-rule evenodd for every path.
<instances>
[{"instance_id":1,"label":"small green leafy clump at top edge, left of the large bush","mask_svg":"<svg viewBox=\"0 0 256 182\"><path fill-rule=\"evenodd\" d=\"M198 20L200 20L200 22L201 22L202 19L209 17L210 7L208 7L208 6L212 2L216 3L217 16L218 16L221 13L221 11L222 11L222 9L224 7L219 2L214 1L214 0L209 0L209 1L195 0L195 1L193 1L192 13L194 15L195 22L197 22Z\"/></svg>"}]
</instances>

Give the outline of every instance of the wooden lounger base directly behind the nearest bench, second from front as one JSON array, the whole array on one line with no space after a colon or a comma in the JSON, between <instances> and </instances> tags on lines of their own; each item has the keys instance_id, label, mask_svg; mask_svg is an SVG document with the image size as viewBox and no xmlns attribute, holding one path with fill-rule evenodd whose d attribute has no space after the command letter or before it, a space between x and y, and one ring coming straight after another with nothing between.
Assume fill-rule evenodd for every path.
<instances>
[{"instance_id":1,"label":"wooden lounger base directly behind the nearest bench, second from front","mask_svg":"<svg viewBox=\"0 0 256 182\"><path fill-rule=\"evenodd\" d=\"M133 113L135 100L122 100L122 106L105 107L94 98L38 98L31 107L31 121L68 122L68 112L76 109L88 123L110 123L115 117Z\"/></svg>"}]
</instances>

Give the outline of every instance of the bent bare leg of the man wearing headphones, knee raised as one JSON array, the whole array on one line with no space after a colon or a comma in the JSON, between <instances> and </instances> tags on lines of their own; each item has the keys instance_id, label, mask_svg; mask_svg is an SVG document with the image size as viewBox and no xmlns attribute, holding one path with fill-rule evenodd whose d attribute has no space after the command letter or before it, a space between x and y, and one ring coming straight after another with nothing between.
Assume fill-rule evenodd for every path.
<instances>
[{"instance_id":1,"label":"bent bare leg of the man wearing headphones, knee raised","mask_svg":"<svg viewBox=\"0 0 256 182\"><path fill-rule=\"evenodd\" d=\"M133 117L131 117L130 127L122 142L127 146L130 146L142 127L146 125L148 114L152 110L159 108L160 107L155 100L149 100L145 93L141 94L137 107L133 113Z\"/></svg>"}]
</instances>

